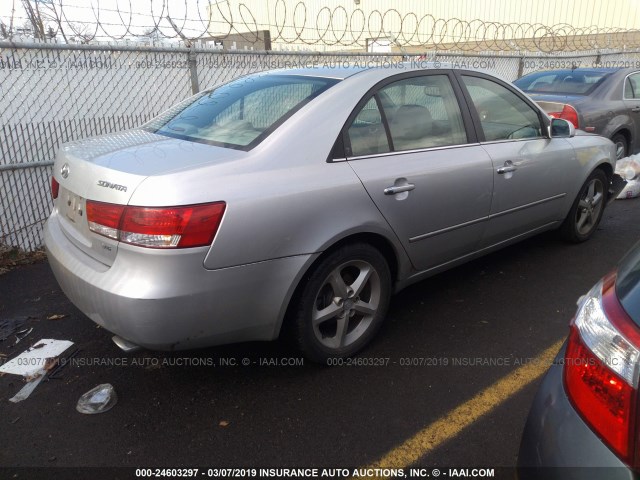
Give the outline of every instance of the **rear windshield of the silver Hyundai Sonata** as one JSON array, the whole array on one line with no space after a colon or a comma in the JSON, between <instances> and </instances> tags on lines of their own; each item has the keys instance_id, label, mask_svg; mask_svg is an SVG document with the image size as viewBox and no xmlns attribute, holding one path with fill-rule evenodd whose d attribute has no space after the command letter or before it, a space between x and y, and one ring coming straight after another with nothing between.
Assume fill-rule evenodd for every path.
<instances>
[{"instance_id":1,"label":"rear windshield of the silver Hyundai Sonata","mask_svg":"<svg viewBox=\"0 0 640 480\"><path fill-rule=\"evenodd\" d=\"M339 80L252 75L207 90L145 124L169 137L250 150Z\"/></svg>"}]
</instances>

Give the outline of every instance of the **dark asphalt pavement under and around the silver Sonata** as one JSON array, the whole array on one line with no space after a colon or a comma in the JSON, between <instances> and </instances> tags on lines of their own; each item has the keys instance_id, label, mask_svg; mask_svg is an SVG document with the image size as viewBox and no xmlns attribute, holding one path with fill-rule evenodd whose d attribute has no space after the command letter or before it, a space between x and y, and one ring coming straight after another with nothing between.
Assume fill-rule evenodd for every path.
<instances>
[{"instance_id":1,"label":"dark asphalt pavement under and around the silver Sonata","mask_svg":"<svg viewBox=\"0 0 640 480\"><path fill-rule=\"evenodd\" d=\"M576 299L640 239L639 219L640 199L616 201L586 243L551 232L415 284L393 298L371 346L332 367L282 342L126 355L71 305L46 263L19 267L0 275L0 321L33 331L0 342L0 363L47 338L71 340L78 353L17 404L8 399L22 379L0 377L0 466L375 464L562 340ZM101 383L114 386L115 407L78 413L78 398ZM513 467L537 383L523 378L412 466Z\"/></svg>"}]
</instances>

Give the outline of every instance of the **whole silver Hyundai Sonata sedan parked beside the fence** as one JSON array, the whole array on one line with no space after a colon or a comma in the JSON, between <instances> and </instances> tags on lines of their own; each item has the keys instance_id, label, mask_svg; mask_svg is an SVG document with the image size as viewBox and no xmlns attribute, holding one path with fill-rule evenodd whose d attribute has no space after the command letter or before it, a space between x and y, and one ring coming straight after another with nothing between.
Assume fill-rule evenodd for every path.
<instances>
[{"instance_id":1,"label":"whole silver Hyundai Sonata sedan parked beside the fence","mask_svg":"<svg viewBox=\"0 0 640 480\"><path fill-rule=\"evenodd\" d=\"M323 361L410 283L545 230L588 239L614 166L609 140L486 73L279 70L63 145L45 245L120 345L286 332Z\"/></svg>"}]
</instances>

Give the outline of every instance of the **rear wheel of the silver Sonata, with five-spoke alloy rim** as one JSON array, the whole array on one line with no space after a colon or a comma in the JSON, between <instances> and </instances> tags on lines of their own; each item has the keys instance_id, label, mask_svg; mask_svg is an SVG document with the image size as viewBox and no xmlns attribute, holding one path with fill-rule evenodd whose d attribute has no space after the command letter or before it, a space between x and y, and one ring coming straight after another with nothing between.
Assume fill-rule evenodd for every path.
<instances>
[{"instance_id":1,"label":"rear wheel of the silver Sonata, with five-spoke alloy rim","mask_svg":"<svg viewBox=\"0 0 640 480\"><path fill-rule=\"evenodd\" d=\"M379 330L389 307L391 273L366 243L341 246L314 266L292 305L296 347L327 363L360 351Z\"/></svg>"}]
</instances>

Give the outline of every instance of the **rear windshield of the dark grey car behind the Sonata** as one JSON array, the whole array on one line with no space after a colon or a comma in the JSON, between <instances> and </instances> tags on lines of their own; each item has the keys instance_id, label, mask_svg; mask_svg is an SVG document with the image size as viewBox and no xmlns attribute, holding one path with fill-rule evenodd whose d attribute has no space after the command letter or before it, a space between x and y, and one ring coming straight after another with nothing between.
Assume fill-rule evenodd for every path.
<instances>
[{"instance_id":1,"label":"rear windshield of the dark grey car behind the Sonata","mask_svg":"<svg viewBox=\"0 0 640 480\"><path fill-rule=\"evenodd\" d=\"M600 70L556 70L525 75L513 83L527 93L588 95L610 74Z\"/></svg>"}]
</instances>

